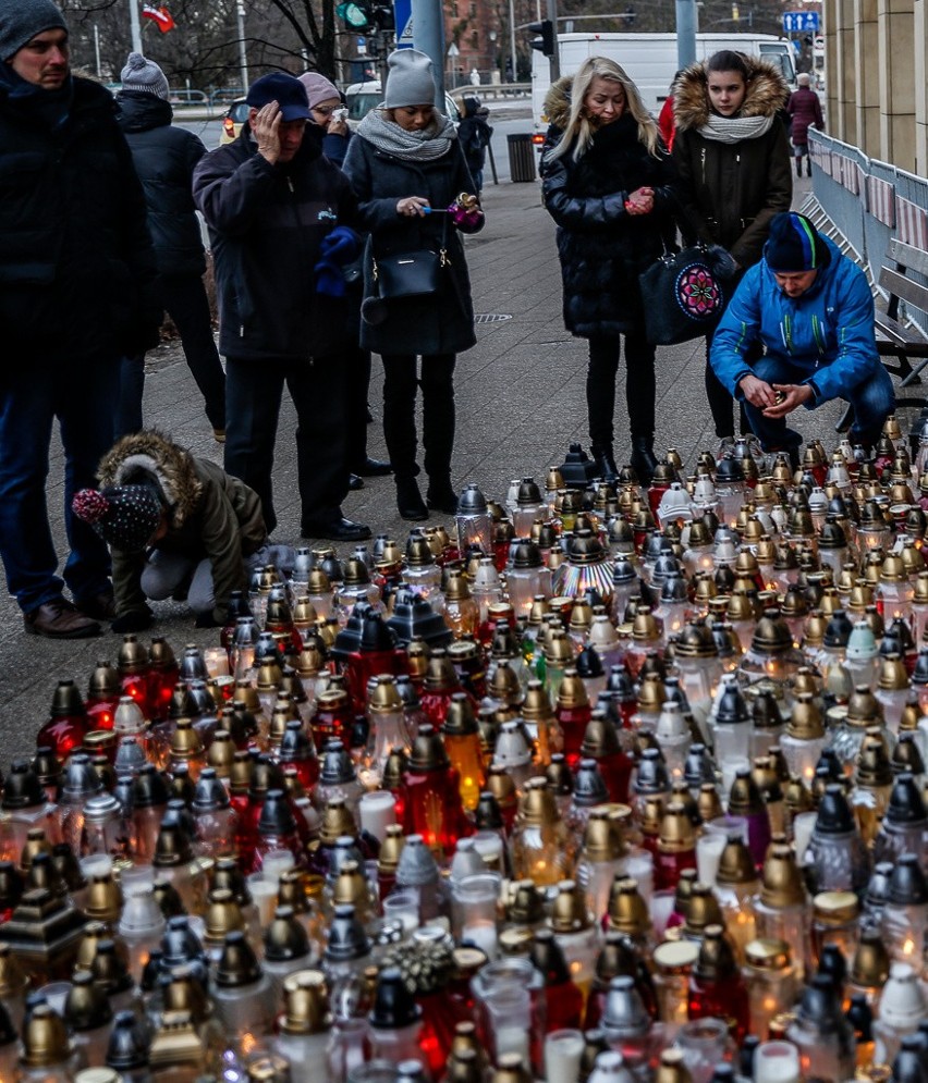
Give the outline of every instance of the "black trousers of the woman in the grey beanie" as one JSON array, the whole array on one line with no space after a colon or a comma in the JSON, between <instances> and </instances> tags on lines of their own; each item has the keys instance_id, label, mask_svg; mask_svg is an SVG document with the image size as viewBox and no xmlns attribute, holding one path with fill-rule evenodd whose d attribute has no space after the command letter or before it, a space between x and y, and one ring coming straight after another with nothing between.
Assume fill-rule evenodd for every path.
<instances>
[{"instance_id":1,"label":"black trousers of the woman in the grey beanie","mask_svg":"<svg viewBox=\"0 0 928 1083\"><path fill-rule=\"evenodd\" d=\"M423 446L430 481L451 478L454 447L454 354L423 357L416 380L415 354L383 355L383 436L398 480L414 478L416 464L416 391L423 389Z\"/></svg>"}]
</instances>

